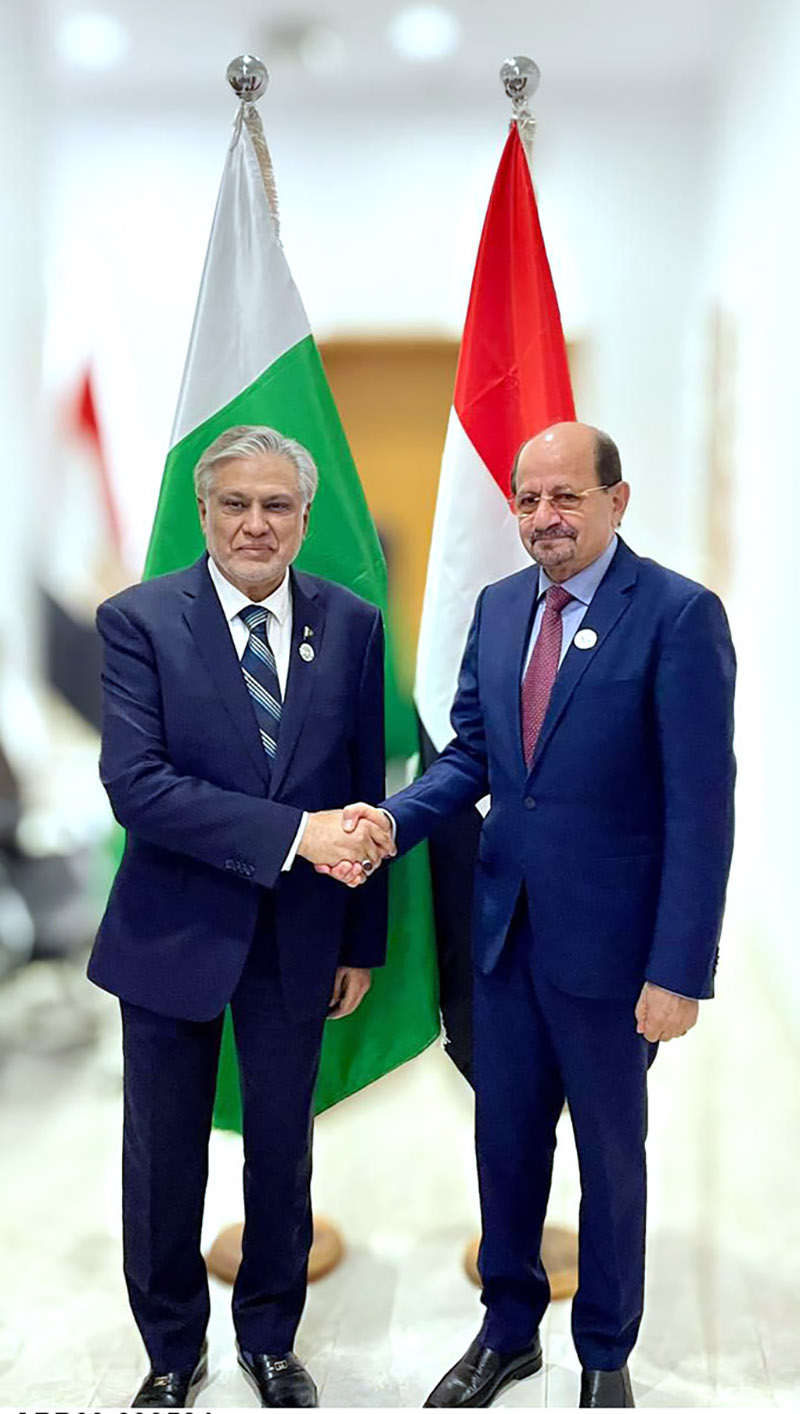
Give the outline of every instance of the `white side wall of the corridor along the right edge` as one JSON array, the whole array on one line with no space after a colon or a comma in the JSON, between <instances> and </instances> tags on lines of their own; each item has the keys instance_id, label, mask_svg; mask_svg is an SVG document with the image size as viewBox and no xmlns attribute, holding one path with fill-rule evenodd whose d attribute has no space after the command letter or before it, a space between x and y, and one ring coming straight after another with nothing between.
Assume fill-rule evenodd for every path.
<instances>
[{"instance_id":1,"label":"white side wall of the corridor along the right edge","mask_svg":"<svg viewBox=\"0 0 800 1414\"><path fill-rule=\"evenodd\" d=\"M797 1032L800 1000L800 10L742 34L718 115L707 288L736 334L735 587L741 659L738 874L752 943Z\"/></svg>"}]
</instances>

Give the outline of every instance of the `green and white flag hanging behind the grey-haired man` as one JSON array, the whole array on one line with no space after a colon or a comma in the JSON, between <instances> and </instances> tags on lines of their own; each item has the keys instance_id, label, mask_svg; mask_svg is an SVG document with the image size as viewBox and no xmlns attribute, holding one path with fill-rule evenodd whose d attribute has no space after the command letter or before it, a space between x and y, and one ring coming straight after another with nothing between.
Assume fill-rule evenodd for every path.
<instances>
[{"instance_id":1,"label":"green and white flag hanging behind the grey-haired man","mask_svg":"<svg viewBox=\"0 0 800 1414\"><path fill-rule=\"evenodd\" d=\"M247 115L247 122L257 123L257 115ZM319 491L298 568L345 584L386 614L386 564L277 235L260 165L264 161L266 146L259 143L256 148L247 123L237 122L222 174L144 575L181 568L202 553L192 484L198 457L228 427L261 424L295 437L319 467ZM392 754L410 755L417 745L413 704L399 696L390 653L386 666L387 747ZM331 806L346 803L331 800ZM386 967L373 973L372 990L358 1012L325 1028L317 1110L408 1060L438 1032L431 891L423 848L392 867ZM240 1130L229 1025L215 1123Z\"/></svg>"}]
</instances>

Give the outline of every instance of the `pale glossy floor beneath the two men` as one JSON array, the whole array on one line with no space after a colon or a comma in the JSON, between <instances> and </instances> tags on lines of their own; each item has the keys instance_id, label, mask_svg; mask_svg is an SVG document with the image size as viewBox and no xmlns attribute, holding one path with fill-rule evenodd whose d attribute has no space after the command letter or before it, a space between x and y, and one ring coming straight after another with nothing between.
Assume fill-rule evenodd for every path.
<instances>
[{"instance_id":1,"label":"pale glossy floor beneath the two men","mask_svg":"<svg viewBox=\"0 0 800 1414\"><path fill-rule=\"evenodd\" d=\"M729 943L719 1000L652 1076L642 1406L800 1404L800 1053L755 957ZM89 1008L78 1022L68 995ZM0 991L0 1406L124 1406L144 1360L119 1270L114 1007L30 973ZM461 1268L476 1230L469 1092L437 1048L321 1118L315 1202L348 1243L298 1339L322 1404L418 1407L479 1321ZM215 1135L209 1239L239 1210L237 1143ZM575 1213L563 1126L551 1215ZM228 1305L215 1285L206 1408L254 1404ZM575 1404L567 1305L543 1335L544 1372L500 1404Z\"/></svg>"}]
</instances>

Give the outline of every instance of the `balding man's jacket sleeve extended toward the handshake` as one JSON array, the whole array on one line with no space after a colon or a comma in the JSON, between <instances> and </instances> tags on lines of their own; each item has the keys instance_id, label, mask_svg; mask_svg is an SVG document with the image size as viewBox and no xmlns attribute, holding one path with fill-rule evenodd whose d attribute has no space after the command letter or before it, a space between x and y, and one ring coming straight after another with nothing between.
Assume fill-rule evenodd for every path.
<instances>
[{"instance_id":1,"label":"balding man's jacket sleeve extended toward the handshake","mask_svg":"<svg viewBox=\"0 0 800 1414\"><path fill-rule=\"evenodd\" d=\"M449 714L455 738L418 781L382 802L397 826L399 854L406 854L420 840L427 839L447 816L476 805L489 789L486 734L478 686L482 607L483 594L475 607Z\"/></svg>"}]
</instances>

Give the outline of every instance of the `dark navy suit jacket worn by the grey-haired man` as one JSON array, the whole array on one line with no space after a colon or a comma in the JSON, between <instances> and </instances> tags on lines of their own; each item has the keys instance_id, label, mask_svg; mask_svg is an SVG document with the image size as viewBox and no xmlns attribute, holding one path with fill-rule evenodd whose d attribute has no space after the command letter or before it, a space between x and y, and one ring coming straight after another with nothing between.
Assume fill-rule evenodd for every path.
<instances>
[{"instance_id":1,"label":"dark navy suit jacket worn by the grey-haired man","mask_svg":"<svg viewBox=\"0 0 800 1414\"><path fill-rule=\"evenodd\" d=\"M319 1015L339 964L386 953L386 878L346 889L295 858L302 810L383 795L380 612L291 573L293 642L269 768L205 557L98 611L100 776L127 830L89 977L124 1001L206 1021L229 1001L263 891L287 1005ZM308 632L305 632L308 631ZM305 662L304 638L314 649Z\"/></svg>"}]
</instances>

